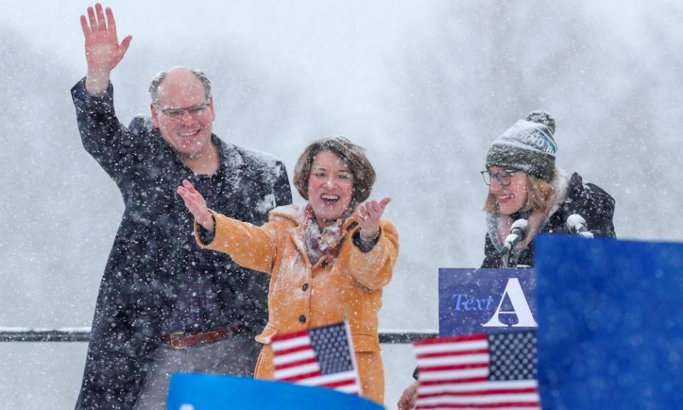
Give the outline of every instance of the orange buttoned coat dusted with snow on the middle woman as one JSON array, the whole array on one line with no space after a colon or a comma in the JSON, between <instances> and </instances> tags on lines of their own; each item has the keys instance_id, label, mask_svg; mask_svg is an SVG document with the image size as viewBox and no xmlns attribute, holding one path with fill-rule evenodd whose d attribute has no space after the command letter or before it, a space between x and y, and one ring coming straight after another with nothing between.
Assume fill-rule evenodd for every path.
<instances>
[{"instance_id":1,"label":"orange buttoned coat dusted with snow on the middle woman","mask_svg":"<svg viewBox=\"0 0 683 410\"><path fill-rule=\"evenodd\" d=\"M382 288L389 283L398 257L398 234L380 221L381 234L368 253L354 245L359 230L353 218L342 225L336 257L322 256L315 265L304 248L303 206L288 205L270 211L263 226L254 226L213 213L216 233L201 246L228 253L233 261L270 273L268 325L256 340L263 344L255 377L272 379L270 340L277 333L349 320L363 396L383 404L384 369L379 348L377 313Z\"/></svg>"}]
</instances>

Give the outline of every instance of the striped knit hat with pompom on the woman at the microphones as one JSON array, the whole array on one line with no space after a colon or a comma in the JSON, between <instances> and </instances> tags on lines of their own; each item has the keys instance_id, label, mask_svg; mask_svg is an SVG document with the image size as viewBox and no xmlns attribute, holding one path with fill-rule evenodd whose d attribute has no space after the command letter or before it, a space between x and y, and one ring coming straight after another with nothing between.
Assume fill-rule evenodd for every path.
<instances>
[{"instance_id":1,"label":"striped knit hat with pompom on the woman at the microphones","mask_svg":"<svg viewBox=\"0 0 683 410\"><path fill-rule=\"evenodd\" d=\"M524 171L551 182L557 146L555 120L545 111L532 111L497 138L486 154L486 167Z\"/></svg>"}]
</instances>

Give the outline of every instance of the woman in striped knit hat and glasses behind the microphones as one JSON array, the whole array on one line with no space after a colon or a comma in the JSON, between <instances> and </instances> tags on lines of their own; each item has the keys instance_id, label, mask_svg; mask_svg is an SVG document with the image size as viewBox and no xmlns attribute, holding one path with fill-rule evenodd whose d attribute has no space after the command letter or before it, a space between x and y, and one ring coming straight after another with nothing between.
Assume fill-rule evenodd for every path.
<instances>
[{"instance_id":1,"label":"woman in striped knit hat and glasses behind the microphones","mask_svg":"<svg viewBox=\"0 0 683 410\"><path fill-rule=\"evenodd\" d=\"M553 117L534 111L489 147L482 171L489 186L482 268L502 268L508 262L511 267L532 266L536 234L570 233L568 226L576 226L576 216L570 216L575 214L594 236L615 237L614 199L594 184L583 184L576 172L568 177L555 166L554 133ZM513 224L526 226L526 236L508 251L505 240Z\"/></svg>"}]
</instances>

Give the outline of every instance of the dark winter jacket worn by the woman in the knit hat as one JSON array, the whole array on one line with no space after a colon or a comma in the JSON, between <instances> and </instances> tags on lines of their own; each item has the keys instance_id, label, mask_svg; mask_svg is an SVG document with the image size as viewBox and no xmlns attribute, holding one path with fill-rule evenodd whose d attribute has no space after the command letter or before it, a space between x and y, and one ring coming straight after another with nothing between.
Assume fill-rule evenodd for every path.
<instances>
[{"instance_id":1,"label":"dark winter jacket worn by the woman in the knit hat","mask_svg":"<svg viewBox=\"0 0 683 410\"><path fill-rule=\"evenodd\" d=\"M586 219L588 230L594 236L615 238L612 217L614 214L615 201L603 189L594 184L583 184L583 179L576 172L567 181L563 172L558 172L554 180L555 187L561 192L558 203L553 204L549 214L543 221L538 233L568 233L566 221L568 216L579 214ZM529 212L518 212L512 215L512 220L528 219ZM502 268L502 243L498 241L497 218L499 214L487 214L487 233L484 246L484 262L482 268ZM536 233L536 234L538 234ZM529 246L514 252L518 265L534 265L534 242Z\"/></svg>"}]
</instances>

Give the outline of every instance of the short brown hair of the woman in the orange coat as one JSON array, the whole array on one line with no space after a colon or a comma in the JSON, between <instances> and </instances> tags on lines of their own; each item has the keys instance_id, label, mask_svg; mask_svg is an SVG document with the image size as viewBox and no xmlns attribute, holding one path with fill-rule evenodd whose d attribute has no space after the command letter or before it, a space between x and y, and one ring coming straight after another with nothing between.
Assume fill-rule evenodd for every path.
<instances>
[{"instance_id":1,"label":"short brown hair of the woman in the orange coat","mask_svg":"<svg viewBox=\"0 0 683 410\"><path fill-rule=\"evenodd\" d=\"M345 137L324 137L312 142L297 160L294 168L294 186L308 200L308 178L311 174L313 160L319 152L329 151L341 158L354 174L354 196L352 203L360 204L368 199L375 184L375 169L365 156L365 149L354 144Z\"/></svg>"}]
</instances>

